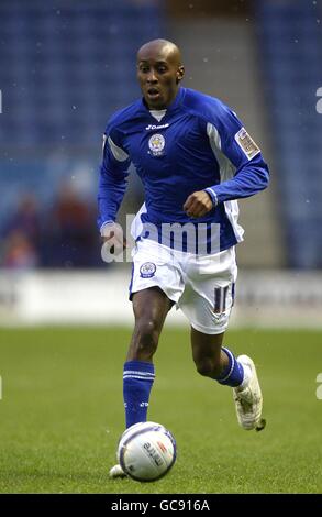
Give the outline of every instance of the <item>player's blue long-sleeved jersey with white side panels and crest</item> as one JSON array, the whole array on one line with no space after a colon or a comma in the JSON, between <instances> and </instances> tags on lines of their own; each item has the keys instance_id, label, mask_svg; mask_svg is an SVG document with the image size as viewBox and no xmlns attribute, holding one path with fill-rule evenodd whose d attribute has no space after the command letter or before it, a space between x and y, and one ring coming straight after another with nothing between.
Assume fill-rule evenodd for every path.
<instances>
[{"instance_id":1,"label":"player's blue long-sleeved jersey with white side panels and crest","mask_svg":"<svg viewBox=\"0 0 322 517\"><path fill-rule=\"evenodd\" d=\"M145 190L135 238L141 223L157 229L176 222L218 224L220 251L243 240L236 199L263 190L269 177L260 150L236 114L219 99L182 87L159 122L142 99L110 119L100 170L99 228L115 221L131 162ZM182 206L202 189L214 207L202 218L190 218Z\"/></svg>"}]
</instances>

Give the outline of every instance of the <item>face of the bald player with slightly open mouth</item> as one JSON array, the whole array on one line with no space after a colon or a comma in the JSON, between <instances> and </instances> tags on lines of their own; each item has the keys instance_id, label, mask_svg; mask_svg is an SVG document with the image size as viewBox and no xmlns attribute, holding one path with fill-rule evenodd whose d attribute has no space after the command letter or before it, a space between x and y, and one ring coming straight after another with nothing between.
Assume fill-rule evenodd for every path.
<instances>
[{"instance_id":1,"label":"face of the bald player with slightly open mouth","mask_svg":"<svg viewBox=\"0 0 322 517\"><path fill-rule=\"evenodd\" d=\"M137 56L137 79L149 109L162 110L175 99L184 67L166 52L146 50Z\"/></svg>"}]
</instances>

